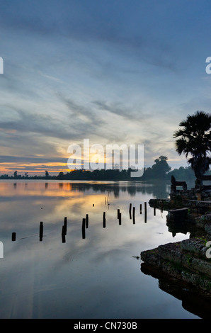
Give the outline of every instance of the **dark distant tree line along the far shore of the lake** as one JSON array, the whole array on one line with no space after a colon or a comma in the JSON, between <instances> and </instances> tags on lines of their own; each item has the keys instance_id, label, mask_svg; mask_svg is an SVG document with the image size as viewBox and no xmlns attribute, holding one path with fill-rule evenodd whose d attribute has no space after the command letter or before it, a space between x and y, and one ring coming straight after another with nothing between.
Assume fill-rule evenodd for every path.
<instances>
[{"instance_id":1,"label":"dark distant tree line along the far shore of the lake","mask_svg":"<svg viewBox=\"0 0 211 333\"><path fill-rule=\"evenodd\" d=\"M13 173L13 176L8 174L1 175L0 179L55 179L55 180L95 180L95 181L149 181L149 180L167 180L170 181L171 175L178 180L195 180L195 174L191 166L183 167L179 169L171 170L171 166L168 164L168 158L166 156L160 156L154 160L154 164L151 167L144 168L144 173L141 177L131 177L131 171L109 169L109 170L78 170L69 171L64 174L63 171L59 172L58 175L51 176L47 170L45 170L44 176L29 176L28 172L25 175L18 174L18 171ZM207 174L211 174L211 171L207 171Z\"/></svg>"}]
</instances>

